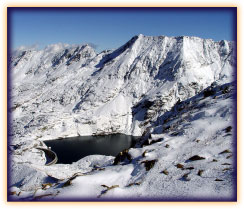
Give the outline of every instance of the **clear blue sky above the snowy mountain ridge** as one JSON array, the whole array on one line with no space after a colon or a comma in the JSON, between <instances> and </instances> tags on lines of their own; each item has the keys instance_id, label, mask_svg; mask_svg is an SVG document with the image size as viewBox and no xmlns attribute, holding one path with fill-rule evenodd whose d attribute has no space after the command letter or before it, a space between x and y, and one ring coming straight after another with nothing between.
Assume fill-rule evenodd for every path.
<instances>
[{"instance_id":1,"label":"clear blue sky above the snowy mountain ridge","mask_svg":"<svg viewBox=\"0 0 244 209\"><path fill-rule=\"evenodd\" d=\"M235 40L230 8L9 8L11 48L92 43L99 52L132 36L198 36Z\"/></svg>"}]
</instances>

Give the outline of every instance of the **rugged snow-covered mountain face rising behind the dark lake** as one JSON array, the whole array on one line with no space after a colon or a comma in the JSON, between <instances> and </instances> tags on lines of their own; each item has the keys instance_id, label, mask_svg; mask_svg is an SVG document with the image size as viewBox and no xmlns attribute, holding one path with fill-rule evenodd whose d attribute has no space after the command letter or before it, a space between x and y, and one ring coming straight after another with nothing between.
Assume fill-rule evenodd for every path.
<instances>
[{"instance_id":1,"label":"rugged snow-covered mountain face rising behind the dark lake","mask_svg":"<svg viewBox=\"0 0 244 209\"><path fill-rule=\"evenodd\" d=\"M11 57L13 140L141 136L177 102L235 75L234 43L138 35L114 51L50 45Z\"/></svg>"}]
</instances>

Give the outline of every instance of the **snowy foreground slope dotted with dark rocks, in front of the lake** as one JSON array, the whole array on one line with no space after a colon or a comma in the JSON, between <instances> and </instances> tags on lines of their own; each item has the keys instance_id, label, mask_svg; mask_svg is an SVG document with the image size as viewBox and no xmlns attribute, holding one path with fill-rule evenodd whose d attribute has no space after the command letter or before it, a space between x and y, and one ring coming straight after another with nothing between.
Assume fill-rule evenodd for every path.
<instances>
[{"instance_id":1,"label":"snowy foreground slope dotted with dark rocks, in front of the lake","mask_svg":"<svg viewBox=\"0 0 244 209\"><path fill-rule=\"evenodd\" d=\"M116 158L45 166L35 148L41 144L22 143L12 150L11 200L234 201L235 89L209 87L176 104L148 138Z\"/></svg>"}]
</instances>

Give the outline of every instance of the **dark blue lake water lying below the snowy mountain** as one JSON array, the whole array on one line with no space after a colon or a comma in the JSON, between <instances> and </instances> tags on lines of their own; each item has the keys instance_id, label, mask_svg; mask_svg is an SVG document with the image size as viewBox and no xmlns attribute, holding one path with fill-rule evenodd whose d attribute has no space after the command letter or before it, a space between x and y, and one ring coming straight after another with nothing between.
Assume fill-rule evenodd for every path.
<instances>
[{"instance_id":1,"label":"dark blue lake water lying below the snowy mountain","mask_svg":"<svg viewBox=\"0 0 244 209\"><path fill-rule=\"evenodd\" d=\"M57 154L57 163L70 164L88 155L116 156L122 150L130 148L138 138L124 134L113 134L71 137L48 140L44 143Z\"/></svg>"}]
</instances>

